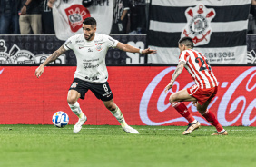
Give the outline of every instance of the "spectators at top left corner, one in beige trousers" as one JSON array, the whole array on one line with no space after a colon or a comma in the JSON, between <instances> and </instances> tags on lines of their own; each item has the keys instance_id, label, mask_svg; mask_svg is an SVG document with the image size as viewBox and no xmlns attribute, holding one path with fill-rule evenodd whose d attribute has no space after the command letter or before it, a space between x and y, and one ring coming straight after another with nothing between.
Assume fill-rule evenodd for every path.
<instances>
[{"instance_id":1,"label":"spectators at top left corner, one in beige trousers","mask_svg":"<svg viewBox=\"0 0 256 167\"><path fill-rule=\"evenodd\" d=\"M0 0L0 34L54 34L47 0Z\"/></svg>"}]
</instances>

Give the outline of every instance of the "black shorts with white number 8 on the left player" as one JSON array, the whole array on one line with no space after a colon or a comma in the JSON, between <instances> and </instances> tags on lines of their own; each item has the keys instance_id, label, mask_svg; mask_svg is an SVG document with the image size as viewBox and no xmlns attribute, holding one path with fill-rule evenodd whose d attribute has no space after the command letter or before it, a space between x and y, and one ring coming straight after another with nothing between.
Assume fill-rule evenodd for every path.
<instances>
[{"instance_id":1,"label":"black shorts with white number 8 on the left player","mask_svg":"<svg viewBox=\"0 0 256 167\"><path fill-rule=\"evenodd\" d=\"M84 80L74 78L69 90L75 90L81 95L81 99L84 99L85 93L91 90L94 95L102 101L110 101L113 99L113 93L109 87L108 82L105 83L89 83Z\"/></svg>"}]
</instances>

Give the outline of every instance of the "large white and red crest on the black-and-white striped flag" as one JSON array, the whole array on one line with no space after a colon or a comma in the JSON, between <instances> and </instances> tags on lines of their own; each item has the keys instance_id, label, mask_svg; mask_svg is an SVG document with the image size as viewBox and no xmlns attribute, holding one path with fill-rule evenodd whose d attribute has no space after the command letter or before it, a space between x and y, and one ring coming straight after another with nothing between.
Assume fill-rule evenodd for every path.
<instances>
[{"instance_id":1,"label":"large white and red crest on the black-and-white striped flag","mask_svg":"<svg viewBox=\"0 0 256 167\"><path fill-rule=\"evenodd\" d=\"M191 37L195 46L208 44L212 35L210 24L215 15L215 10L205 5L187 8L187 25L182 29L181 37Z\"/></svg>"}]
</instances>

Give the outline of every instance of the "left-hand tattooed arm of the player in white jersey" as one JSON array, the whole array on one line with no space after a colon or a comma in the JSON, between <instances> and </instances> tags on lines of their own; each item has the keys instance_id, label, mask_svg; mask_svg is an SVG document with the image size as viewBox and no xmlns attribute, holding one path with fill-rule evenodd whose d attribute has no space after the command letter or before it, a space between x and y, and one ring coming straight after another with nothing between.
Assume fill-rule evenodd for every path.
<instances>
[{"instance_id":1,"label":"left-hand tattooed arm of the player in white jersey","mask_svg":"<svg viewBox=\"0 0 256 167\"><path fill-rule=\"evenodd\" d=\"M66 50L64 49L64 46L62 45L58 50L56 50L53 54L51 54L43 64L39 65L38 68L35 70L35 76L39 78L44 73L44 66L46 64L49 64L51 62L54 62L61 54L64 54Z\"/></svg>"}]
</instances>

